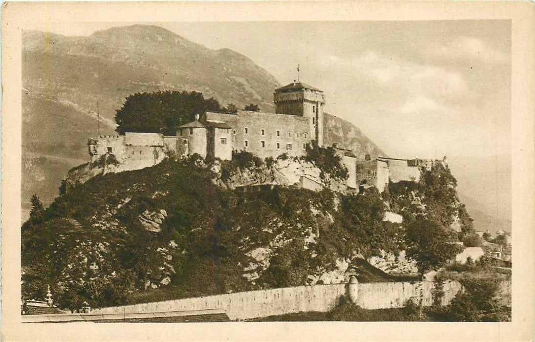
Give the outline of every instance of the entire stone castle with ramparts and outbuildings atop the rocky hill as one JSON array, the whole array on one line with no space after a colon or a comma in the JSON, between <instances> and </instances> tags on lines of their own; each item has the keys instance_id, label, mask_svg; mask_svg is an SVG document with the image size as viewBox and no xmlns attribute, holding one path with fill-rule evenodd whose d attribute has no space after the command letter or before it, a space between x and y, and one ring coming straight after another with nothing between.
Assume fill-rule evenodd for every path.
<instances>
[{"instance_id":1,"label":"entire stone castle with ramparts and outbuildings atop the rocky hill","mask_svg":"<svg viewBox=\"0 0 535 342\"><path fill-rule=\"evenodd\" d=\"M166 156L232 159L232 151L248 151L258 157L276 158L286 153L299 157L306 146L324 146L325 95L302 82L292 82L274 91L275 113L241 111L205 112L177 128L177 135L127 132L118 136L89 139L91 164L113 154L118 162L113 172L141 169L158 164ZM336 147L336 146L335 146ZM336 148L347 167L348 189L360 192L375 186L383 192L388 182L418 181L420 168L430 168L433 160L395 159L369 155L358 158L349 150ZM445 162L445 161L440 161Z\"/></svg>"}]
</instances>

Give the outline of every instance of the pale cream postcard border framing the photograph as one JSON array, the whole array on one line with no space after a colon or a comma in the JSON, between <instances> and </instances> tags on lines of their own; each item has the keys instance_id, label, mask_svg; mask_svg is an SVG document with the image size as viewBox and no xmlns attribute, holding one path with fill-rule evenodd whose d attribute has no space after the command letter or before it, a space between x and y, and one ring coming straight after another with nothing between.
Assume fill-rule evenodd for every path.
<instances>
[{"instance_id":1,"label":"pale cream postcard border framing the photograph","mask_svg":"<svg viewBox=\"0 0 535 342\"><path fill-rule=\"evenodd\" d=\"M7 3L2 9L2 339L533 340L535 5L530 2ZM21 30L32 22L510 19L513 182L512 322L65 323L20 321ZM200 24L202 25L202 23Z\"/></svg>"}]
</instances>

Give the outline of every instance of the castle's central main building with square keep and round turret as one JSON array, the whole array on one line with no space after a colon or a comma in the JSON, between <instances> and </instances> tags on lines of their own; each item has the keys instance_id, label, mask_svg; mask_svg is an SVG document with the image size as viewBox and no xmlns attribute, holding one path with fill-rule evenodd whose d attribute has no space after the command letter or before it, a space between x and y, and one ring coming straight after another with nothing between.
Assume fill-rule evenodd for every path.
<instances>
[{"instance_id":1,"label":"castle's central main building with square keep and round turret","mask_svg":"<svg viewBox=\"0 0 535 342\"><path fill-rule=\"evenodd\" d=\"M188 154L220 159L231 159L233 150L265 158L301 156L312 141L323 146L323 91L293 82L276 89L273 102L276 113L206 112L178 127L177 135L187 139Z\"/></svg>"}]
</instances>

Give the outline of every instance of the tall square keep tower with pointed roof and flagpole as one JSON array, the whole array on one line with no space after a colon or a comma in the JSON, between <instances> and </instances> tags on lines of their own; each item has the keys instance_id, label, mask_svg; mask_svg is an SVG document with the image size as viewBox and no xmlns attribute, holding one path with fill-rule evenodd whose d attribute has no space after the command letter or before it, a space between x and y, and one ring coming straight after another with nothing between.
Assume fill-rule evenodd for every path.
<instances>
[{"instance_id":1,"label":"tall square keep tower with pointed roof and flagpole","mask_svg":"<svg viewBox=\"0 0 535 342\"><path fill-rule=\"evenodd\" d=\"M302 82L294 82L278 88L273 94L277 114L289 114L310 118L310 132L314 134L318 146L323 146L323 105L325 95L322 90Z\"/></svg>"}]
</instances>

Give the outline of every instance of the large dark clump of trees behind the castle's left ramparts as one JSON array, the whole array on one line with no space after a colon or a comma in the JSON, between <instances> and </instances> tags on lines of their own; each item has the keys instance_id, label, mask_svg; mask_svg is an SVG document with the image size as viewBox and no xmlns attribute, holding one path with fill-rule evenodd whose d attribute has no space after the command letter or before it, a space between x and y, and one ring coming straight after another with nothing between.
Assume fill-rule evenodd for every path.
<instances>
[{"instance_id":1,"label":"large dark clump of trees behind the castle's left ramparts","mask_svg":"<svg viewBox=\"0 0 535 342\"><path fill-rule=\"evenodd\" d=\"M206 99L201 92L137 92L128 96L123 107L117 110L116 131L119 134L150 132L175 135L177 127L194 120L195 114L220 110L217 99Z\"/></svg>"}]
</instances>

